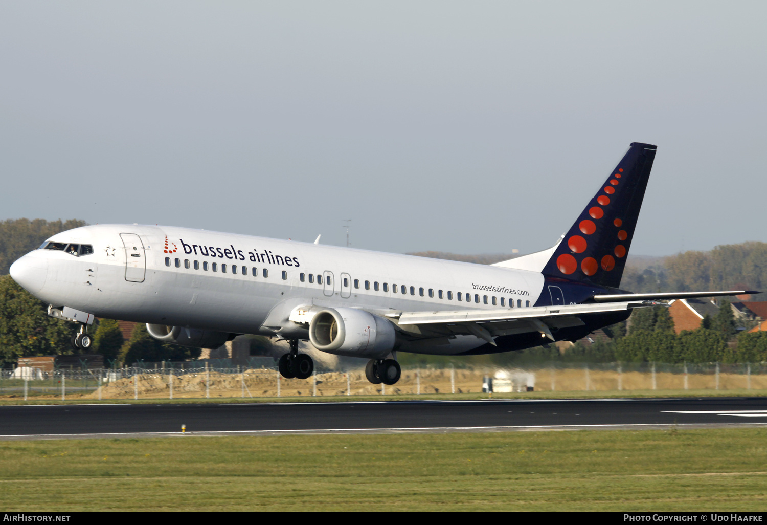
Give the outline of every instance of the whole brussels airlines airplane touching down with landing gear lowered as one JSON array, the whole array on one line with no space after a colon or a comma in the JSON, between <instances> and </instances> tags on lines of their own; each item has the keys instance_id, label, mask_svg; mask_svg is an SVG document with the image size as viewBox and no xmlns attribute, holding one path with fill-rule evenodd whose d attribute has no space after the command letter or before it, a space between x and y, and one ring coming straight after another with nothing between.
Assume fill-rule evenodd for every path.
<instances>
[{"instance_id":1,"label":"whole brussels airlines airplane touching down with landing gear lowered","mask_svg":"<svg viewBox=\"0 0 767 525\"><path fill-rule=\"evenodd\" d=\"M218 348L241 334L287 340L285 378L308 378L309 341L368 360L393 385L397 352L479 355L577 341L665 299L754 291L631 293L621 276L657 147L632 143L555 246L490 266L173 226L98 224L57 233L12 278L75 322L146 323L153 338Z\"/></svg>"}]
</instances>

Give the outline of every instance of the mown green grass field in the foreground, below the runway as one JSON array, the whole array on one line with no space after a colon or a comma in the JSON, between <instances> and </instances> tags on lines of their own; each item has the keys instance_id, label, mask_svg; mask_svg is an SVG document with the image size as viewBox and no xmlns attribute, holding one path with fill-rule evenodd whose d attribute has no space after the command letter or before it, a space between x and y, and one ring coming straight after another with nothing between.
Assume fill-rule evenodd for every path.
<instances>
[{"instance_id":1,"label":"mown green grass field in the foreground, below the runway","mask_svg":"<svg viewBox=\"0 0 767 525\"><path fill-rule=\"evenodd\" d=\"M767 509L767 429L0 442L3 510Z\"/></svg>"}]
</instances>

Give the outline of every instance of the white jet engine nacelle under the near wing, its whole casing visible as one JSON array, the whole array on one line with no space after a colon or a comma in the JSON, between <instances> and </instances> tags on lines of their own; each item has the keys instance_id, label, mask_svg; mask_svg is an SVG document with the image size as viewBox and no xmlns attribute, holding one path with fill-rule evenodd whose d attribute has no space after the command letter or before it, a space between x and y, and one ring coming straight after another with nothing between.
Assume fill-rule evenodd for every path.
<instances>
[{"instance_id":1,"label":"white jet engine nacelle under the near wing, its whole casing visible","mask_svg":"<svg viewBox=\"0 0 767 525\"><path fill-rule=\"evenodd\" d=\"M322 352L349 357L384 358L397 334L388 319L354 308L328 308L309 323L309 340Z\"/></svg>"}]
</instances>

